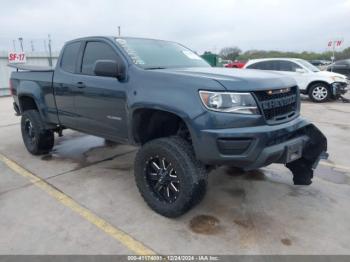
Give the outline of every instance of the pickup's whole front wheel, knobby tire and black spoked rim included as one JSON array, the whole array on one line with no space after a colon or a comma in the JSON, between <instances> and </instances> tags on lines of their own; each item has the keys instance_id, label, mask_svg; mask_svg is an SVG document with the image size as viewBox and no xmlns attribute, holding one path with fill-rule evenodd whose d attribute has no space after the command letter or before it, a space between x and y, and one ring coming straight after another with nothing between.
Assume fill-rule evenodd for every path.
<instances>
[{"instance_id":1,"label":"pickup's whole front wheel, knobby tire and black spoked rim included","mask_svg":"<svg viewBox=\"0 0 350 262\"><path fill-rule=\"evenodd\" d=\"M145 202L166 217L186 213L202 200L207 187L204 166L180 137L155 139L140 148L135 180Z\"/></svg>"}]
</instances>

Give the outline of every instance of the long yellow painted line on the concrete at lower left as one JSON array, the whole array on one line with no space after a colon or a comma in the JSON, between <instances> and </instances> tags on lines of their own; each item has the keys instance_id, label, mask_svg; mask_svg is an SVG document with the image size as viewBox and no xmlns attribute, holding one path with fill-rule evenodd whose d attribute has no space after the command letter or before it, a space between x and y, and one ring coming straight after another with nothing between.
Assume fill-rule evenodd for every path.
<instances>
[{"instance_id":1,"label":"long yellow painted line on the concrete at lower left","mask_svg":"<svg viewBox=\"0 0 350 262\"><path fill-rule=\"evenodd\" d=\"M118 240L123 246L127 247L129 250L134 252L137 255L155 255L156 253L146 247L141 242L137 241L124 231L114 227L109 224L104 219L92 213L90 210L86 209L79 205L72 198L64 194L63 192L57 190L55 187L41 179L40 177L30 173L28 170L24 169L16 162L7 158L6 156L0 154L0 161L3 162L6 166L12 169L17 174L27 178L33 185L44 190L47 194L54 197L58 202L65 205L75 213L79 214L85 220L89 221L91 224L95 225L97 228L101 229L103 232L107 233L109 236Z\"/></svg>"}]
</instances>

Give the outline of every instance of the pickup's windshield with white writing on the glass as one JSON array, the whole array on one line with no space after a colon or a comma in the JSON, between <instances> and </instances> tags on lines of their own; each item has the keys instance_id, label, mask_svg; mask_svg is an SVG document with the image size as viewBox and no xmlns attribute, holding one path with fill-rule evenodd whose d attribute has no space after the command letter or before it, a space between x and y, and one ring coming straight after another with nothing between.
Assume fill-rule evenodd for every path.
<instances>
[{"instance_id":1,"label":"pickup's windshield with white writing on the glass","mask_svg":"<svg viewBox=\"0 0 350 262\"><path fill-rule=\"evenodd\" d=\"M144 69L210 67L200 56L174 42L116 38L132 61Z\"/></svg>"}]
</instances>

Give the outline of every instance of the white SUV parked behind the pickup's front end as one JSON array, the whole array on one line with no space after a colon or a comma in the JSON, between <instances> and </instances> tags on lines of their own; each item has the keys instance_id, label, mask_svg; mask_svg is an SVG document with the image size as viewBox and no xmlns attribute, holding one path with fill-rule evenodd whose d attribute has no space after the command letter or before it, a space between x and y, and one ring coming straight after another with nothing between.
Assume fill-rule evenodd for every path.
<instances>
[{"instance_id":1,"label":"white SUV parked behind the pickup's front end","mask_svg":"<svg viewBox=\"0 0 350 262\"><path fill-rule=\"evenodd\" d=\"M308 94L314 102L335 99L345 94L349 85L346 76L320 71L309 62L297 58L253 59L249 60L243 68L269 70L291 76L297 82L300 93Z\"/></svg>"}]
</instances>

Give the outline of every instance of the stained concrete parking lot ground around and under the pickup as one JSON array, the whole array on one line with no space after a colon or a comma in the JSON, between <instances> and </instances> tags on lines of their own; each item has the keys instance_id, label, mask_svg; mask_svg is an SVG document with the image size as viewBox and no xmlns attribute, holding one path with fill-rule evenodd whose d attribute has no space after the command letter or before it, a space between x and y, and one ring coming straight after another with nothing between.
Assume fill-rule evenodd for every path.
<instances>
[{"instance_id":1,"label":"stained concrete parking lot ground around and under the pickup","mask_svg":"<svg viewBox=\"0 0 350 262\"><path fill-rule=\"evenodd\" d=\"M67 130L32 156L12 98L0 98L0 253L350 254L350 106L304 99L302 115L329 143L311 186L280 165L223 166L203 202L168 219L139 195L137 148Z\"/></svg>"}]
</instances>

